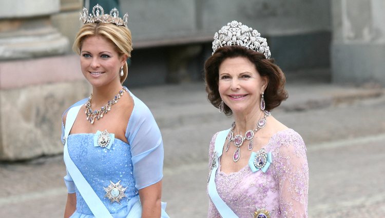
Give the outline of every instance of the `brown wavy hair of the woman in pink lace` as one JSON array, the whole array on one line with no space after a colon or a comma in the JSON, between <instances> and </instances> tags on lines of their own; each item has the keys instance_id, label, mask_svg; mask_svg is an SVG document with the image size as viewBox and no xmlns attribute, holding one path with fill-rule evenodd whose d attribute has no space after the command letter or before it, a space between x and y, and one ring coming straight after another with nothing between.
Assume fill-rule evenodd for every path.
<instances>
[{"instance_id":1,"label":"brown wavy hair of the woman in pink lace","mask_svg":"<svg viewBox=\"0 0 385 218\"><path fill-rule=\"evenodd\" d=\"M222 101L218 89L219 66L226 58L232 57L246 57L255 65L260 76L268 78L268 84L264 91L265 110L271 111L278 107L282 101L286 100L288 94L284 89L286 83L285 75L274 64L273 59L266 59L264 54L242 46L224 46L217 49L204 64L207 97L214 107L219 108ZM233 111L226 104L223 106L223 112L227 116L233 114Z\"/></svg>"}]
</instances>

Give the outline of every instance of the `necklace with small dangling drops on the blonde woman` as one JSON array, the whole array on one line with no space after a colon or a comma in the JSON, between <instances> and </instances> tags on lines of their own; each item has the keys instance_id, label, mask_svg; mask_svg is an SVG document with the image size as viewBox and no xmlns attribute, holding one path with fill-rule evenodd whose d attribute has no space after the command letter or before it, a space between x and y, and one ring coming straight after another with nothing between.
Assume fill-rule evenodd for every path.
<instances>
[{"instance_id":1,"label":"necklace with small dangling drops on the blonde woman","mask_svg":"<svg viewBox=\"0 0 385 218\"><path fill-rule=\"evenodd\" d=\"M119 91L119 93L113 97L111 101L108 101L106 106L103 106L100 110L92 110L91 108L91 100L92 100L92 93L88 98L88 101L86 103L86 115L87 115L87 121L89 121L91 124L95 122L95 120L98 120L104 116L105 113L108 113L108 111L111 110L111 106L118 103L119 98L123 95L124 92L128 91L128 89L123 86L123 89Z\"/></svg>"}]
</instances>

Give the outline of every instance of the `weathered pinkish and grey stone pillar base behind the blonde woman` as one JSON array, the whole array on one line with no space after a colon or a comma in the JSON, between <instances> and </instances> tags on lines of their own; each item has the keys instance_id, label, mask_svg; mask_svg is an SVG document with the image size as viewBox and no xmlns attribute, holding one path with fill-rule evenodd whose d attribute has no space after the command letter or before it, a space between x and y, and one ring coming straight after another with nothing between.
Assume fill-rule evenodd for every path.
<instances>
[{"instance_id":1,"label":"weathered pinkish and grey stone pillar base behind the blonde woman","mask_svg":"<svg viewBox=\"0 0 385 218\"><path fill-rule=\"evenodd\" d=\"M0 5L0 161L61 153L61 114L89 87L67 37L52 25L60 0Z\"/></svg>"}]
</instances>

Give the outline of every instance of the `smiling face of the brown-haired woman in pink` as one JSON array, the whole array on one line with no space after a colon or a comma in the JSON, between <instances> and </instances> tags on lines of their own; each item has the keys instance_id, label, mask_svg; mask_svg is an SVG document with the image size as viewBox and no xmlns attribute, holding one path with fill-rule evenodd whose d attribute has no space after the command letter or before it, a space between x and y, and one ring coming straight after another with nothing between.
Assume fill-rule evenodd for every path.
<instances>
[{"instance_id":1,"label":"smiling face of the brown-haired woman in pink","mask_svg":"<svg viewBox=\"0 0 385 218\"><path fill-rule=\"evenodd\" d=\"M219 94L234 114L260 110L260 97L266 86L267 78L261 77L246 57L226 58L219 66Z\"/></svg>"}]
</instances>

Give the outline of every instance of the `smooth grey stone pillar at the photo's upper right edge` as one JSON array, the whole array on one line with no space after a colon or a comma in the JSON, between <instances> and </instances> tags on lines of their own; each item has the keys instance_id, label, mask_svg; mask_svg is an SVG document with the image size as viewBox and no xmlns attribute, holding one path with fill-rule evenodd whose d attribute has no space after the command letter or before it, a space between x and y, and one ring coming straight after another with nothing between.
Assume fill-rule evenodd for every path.
<instances>
[{"instance_id":1,"label":"smooth grey stone pillar at the photo's upper right edge","mask_svg":"<svg viewBox=\"0 0 385 218\"><path fill-rule=\"evenodd\" d=\"M385 1L332 1L332 80L385 85Z\"/></svg>"}]
</instances>

